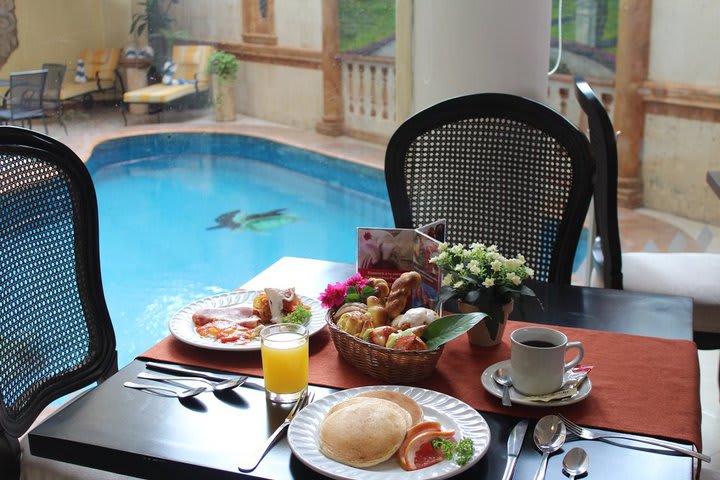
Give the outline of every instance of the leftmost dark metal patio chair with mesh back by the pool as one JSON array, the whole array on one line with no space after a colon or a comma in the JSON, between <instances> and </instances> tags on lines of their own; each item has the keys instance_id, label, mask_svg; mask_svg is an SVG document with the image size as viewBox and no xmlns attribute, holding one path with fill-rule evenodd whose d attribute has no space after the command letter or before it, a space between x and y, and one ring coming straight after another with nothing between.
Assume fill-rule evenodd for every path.
<instances>
[{"instance_id":1,"label":"leftmost dark metal patio chair with mesh back by the pool","mask_svg":"<svg viewBox=\"0 0 720 480\"><path fill-rule=\"evenodd\" d=\"M47 70L11 73L10 88L3 99L3 109L0 110L0 122L6 125L20 122L24 127L27 121L28 127L32 129L33 119L40 118L47 134L47 122L43 110L46 78Z\"/></svg>"}]
</instances>

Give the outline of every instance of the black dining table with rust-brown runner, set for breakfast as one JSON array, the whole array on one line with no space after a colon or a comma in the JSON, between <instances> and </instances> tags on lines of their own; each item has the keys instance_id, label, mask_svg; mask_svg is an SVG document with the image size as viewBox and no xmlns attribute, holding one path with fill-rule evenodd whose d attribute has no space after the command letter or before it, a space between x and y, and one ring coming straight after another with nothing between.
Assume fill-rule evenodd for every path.
<instances>
[{"instance_id":1,"label":"black dining table with rust-brown runner, set for breakfast","mask_svg":"<svg viewBox=\"0 0 720 480\"><path fill-rule=\"evenodd\" d=\"M299 293L317 298L328 284L355 272L351 263L283 257L246 281L239 291L294 286ZM522 419L529 419L529 427L514 478L533 478L542 456L533 442L533 428L542 416L555 413L601 432L623 431L692 450L702 448L690 298L541 282L530 286L539 301L526 302L522 317L518 308L513 311L499 346L476 348L458 337L446 345L436 371L411 385L455 397L487 423L485 454L457 478L501 479L508 459L508 437ZM587 398L571 405L504 407L500 398L483 388L483 372L509 357L509 333L528 324L553 326L570 340L583 341L583 363L593 366ZM137 381L149 361L192 367L219 378L242 373L249 375L249 380L231 391L206 392L183 400L124 388L124 382ZM315 402L347 388L381 383L357 372L339 356L327 328L310 337L309 388ZM288 410L289 406L265 398L259 351L199 348L168 335L35 426L28 441L35 456L139 478L310 479L332 475L299 459L287 438L280 439L255 470L238 470L240 456L256 449ZM550 457L546 478L567 478L562 459L573 447L582 447L589 455L586 478L677 480L691 479L698 471L697 460L664 448L628 440L569 438ZM393 478L422 478L418 472Z\"/></svg>"}]
</instances>

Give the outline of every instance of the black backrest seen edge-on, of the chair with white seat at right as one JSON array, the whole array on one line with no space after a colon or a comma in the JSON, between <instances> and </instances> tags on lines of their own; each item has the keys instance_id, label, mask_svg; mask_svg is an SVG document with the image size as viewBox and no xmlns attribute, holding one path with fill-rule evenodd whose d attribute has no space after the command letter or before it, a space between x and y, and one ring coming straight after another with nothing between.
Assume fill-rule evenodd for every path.
<instances>
[{"instance_id":1,"label":"black backrest seen edge-on, of the chair with white seat at right","mask_svg":"<svg viewBox=\"0 0 720 480\"><path fill-rule=\"evenodd\" d=\"M587 115L590 150L595 162L593 197L595 223L600 237L603 284L623 288L622 250L617 214L618 160L615 129L605 107L582 78L575 78L575 97Z\"/></svg>"}]
</instances>

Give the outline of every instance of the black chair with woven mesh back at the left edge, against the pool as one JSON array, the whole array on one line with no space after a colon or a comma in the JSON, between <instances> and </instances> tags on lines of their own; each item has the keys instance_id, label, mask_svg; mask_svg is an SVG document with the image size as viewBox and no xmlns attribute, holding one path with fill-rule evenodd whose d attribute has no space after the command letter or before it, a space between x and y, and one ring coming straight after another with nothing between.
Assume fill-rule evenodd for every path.
<instances>
[{"instance_id":1,"label":"black chair with woven mesh back at the left edge, against the pool","mask_svg":"<svg viewBox=\"0 0 720 480\"><path fill-rule=\"evenodd\" d=\"M0 478L13 479L40 412L118 368L95 190L69 148L0 127L0 235Z\"/></svg>"}]
</instances>

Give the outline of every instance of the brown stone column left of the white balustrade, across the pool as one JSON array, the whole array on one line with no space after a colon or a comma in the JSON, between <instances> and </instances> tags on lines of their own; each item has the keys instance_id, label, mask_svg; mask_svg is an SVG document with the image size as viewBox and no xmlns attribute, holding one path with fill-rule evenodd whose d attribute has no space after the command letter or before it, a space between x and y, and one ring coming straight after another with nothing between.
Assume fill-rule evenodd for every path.
<instances>
[{"instance_id":1,"label":"brown stone column left of the white balustrade, across the pool","mask_svg":"<svg viewBox=\"0 0 720 480\"><path fill-rule=\"evenodd\" d=\"M343 133L342 64L340 52L339 0L322 0L323 118L318 133L337 137Z\"/></svg>"}]
</instances>

